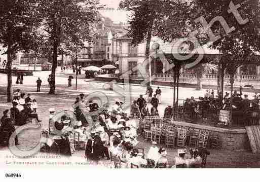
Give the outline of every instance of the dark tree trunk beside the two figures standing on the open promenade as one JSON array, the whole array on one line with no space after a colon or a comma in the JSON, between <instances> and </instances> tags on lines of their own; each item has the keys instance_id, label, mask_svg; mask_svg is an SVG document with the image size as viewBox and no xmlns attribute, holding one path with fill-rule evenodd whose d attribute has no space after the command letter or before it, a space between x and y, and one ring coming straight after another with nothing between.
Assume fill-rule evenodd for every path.
<instances>
[{"instance_id":1,"label":"dark tree trunk beside the two figures standing on the open promenade","mask_svg":"<svg viewBox=\"0 0 260 182\"><path fill-rule=\"evenodd\" d=\"M57 68L57 54L58 54L58 43L53 44L53 62L52 62L52 74L51 74L51 84L49 94L55 94L55 71Z\"/></svg>"}]
</instances>

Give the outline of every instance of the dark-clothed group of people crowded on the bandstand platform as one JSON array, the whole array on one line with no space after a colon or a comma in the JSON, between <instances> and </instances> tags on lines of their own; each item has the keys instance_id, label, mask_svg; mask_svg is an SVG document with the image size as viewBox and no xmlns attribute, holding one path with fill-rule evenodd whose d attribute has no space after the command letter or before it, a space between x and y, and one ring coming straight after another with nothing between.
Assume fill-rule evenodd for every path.
<instances>
[{"instance_id":1,"label":"dark-clothed group of people crowded on the bandstand platform","mask_svg":"<svg viewBox=\"0 0 260 182\"><path fill-rule=\"evenodd\" d=\"M257 93L254 98L249 100L248 95L238 93L236 90L233 93L233 100L231 105L231 97L228 92L225 93L221 99L218 95L214 95L214 91L206 90L204 97L199 97L195 100L194 97L187 98L180 107L183 110L183 115L186 120L195 121L202 118L204 121L214 120L215 124L218 123L218 115L220 110L230 111L233 110L233 119L243 119L239 125L249 124L249 119L253 117L252 113L259 112L260 99ZM255 114L255 117L257 114Z\"/></svg>"}]
</instances>

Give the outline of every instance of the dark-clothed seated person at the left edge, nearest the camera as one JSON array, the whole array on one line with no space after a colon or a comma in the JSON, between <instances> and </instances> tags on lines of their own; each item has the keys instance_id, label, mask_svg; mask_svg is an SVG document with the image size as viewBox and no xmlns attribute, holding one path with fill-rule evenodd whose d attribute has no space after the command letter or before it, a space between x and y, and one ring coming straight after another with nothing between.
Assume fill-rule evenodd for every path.
<instances>
[{"instance_id":1,"label":"dark-clothed seated person at the left edge, nearest the camera","mask_svg":"<svg viewBox=\"0 0 260 182\"><path fill-rule=\"evenodd\" d=\"M6 142L9 145L9 140L13 133L15 133L15 127L12 125L12 119L6 118L3 121L2 126L0 127L0 142L3 142L5 138L8 138L8 140L6 140ZM17 136L15 136L15 145L18 145L18 144L19 144L18 138L17 138Z\"/></svg>"}]
</instances>

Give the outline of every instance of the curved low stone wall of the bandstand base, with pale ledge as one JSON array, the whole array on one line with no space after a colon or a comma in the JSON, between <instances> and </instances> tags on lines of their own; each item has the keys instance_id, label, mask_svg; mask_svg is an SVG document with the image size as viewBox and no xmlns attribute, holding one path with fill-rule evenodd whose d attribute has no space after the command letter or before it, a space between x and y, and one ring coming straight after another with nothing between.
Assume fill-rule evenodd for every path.
<instances>
[{"instance_id":1,"label":"curved low stone wall of the bandstand base, with pale ledge","mask_svg":"<svg viewBox=\"0 0 260 182\"><path fill-rule=\"evenodd\" d=\"M198 125L185 122L173 122L174 125L212 131L218 134L221 149L251 150L245 129L226 129L212 126Z\"/></svg>"}]
</instances>

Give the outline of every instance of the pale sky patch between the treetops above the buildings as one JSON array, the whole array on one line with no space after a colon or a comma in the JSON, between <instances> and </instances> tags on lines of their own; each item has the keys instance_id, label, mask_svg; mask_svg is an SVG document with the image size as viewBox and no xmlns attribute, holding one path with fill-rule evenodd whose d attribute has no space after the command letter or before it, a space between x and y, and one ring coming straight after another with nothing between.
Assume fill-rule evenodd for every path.
<instances>
[{"instance_id":1,"label":"pale sky patch between the treetops above the buildings","mask_svg":"<svg viewBox=\"0 0 260 182\"><path fill-rule=\"evenodd\" d=\"M130 15L128 11L118 10L118 5L121 0L100 0L100 4L106 5L105 8L114 8L115 10L99 10L102 16L108 17L114 21L114 23L127 22L127 15Z\"/></svg>"}]
</instances>

